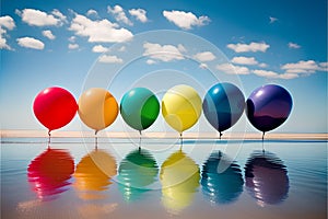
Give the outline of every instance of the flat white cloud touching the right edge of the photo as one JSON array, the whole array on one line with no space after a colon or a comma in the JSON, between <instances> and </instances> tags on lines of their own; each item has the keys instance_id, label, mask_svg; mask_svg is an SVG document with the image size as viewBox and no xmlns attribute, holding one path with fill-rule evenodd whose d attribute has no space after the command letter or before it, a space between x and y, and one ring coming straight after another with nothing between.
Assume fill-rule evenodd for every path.
<instances>
[{"instance_id":1,"label":"flat white cloud touching the right edge of the photo","mask_svg":"<svg viewBox=\"0 0 328 219\"><path fill-rule=\"evenodd\" d=\"M316 71L327 71L326 62L317 64L314 60L301 60L295 64L285 64L281 69L286 73L315 73Z\"/></svg>"}]
</instances>

